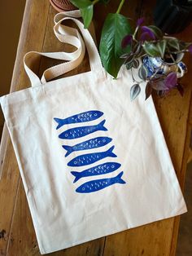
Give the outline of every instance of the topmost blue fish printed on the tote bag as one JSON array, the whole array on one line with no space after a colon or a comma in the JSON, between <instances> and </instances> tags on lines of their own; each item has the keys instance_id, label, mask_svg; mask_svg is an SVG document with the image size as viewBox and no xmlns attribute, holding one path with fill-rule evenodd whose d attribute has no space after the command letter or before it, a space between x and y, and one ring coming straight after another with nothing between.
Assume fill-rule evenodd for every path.
<instances>
[{"instance_id":1,"label":"topmost blue fish printed on the tote bag","mask_svg":"<svg viewBox=\"0 0 192 256\"><path fill-rule=\"evenodd\" d=\"M98 110L90 110L90 111L79 113L77 115L74 115L72 117L67 117L64 119L54 118L54 120L58 123L58 126L56 127L56 130L58 130L60 127L66 124L93 121L95 119L98 119L98 117L102 117L102 116L103 116L103 112Z\"/></svg>"}]
</instances>

